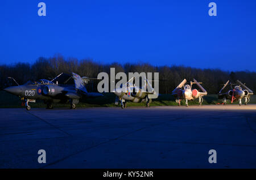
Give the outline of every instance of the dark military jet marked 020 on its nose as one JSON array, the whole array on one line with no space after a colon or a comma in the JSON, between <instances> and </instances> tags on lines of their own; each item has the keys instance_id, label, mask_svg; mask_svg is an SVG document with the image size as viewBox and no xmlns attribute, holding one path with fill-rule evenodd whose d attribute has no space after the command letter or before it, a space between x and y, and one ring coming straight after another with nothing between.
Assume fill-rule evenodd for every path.
<instances>
[{"instance_id":1,"label":"dark military jet marked 020 on its nose","mask_svg":"<svg viewBox=\"0 0 256 180\"><path fill-rule=\"evenodd\" d=\"M67 84L71 79L73 79L75 84ZM35 102L36 100L43 100L44 104L47 104L48 109L53 108L53 103L69 103L71 109L75 109L76 104L83 97L102 96L101 93L86 91L85 82L88 82L88 80L90 78L81 78L74 72L72 72L72 76L62 73L51 81L40 79L36 82L30 81L19 85L14 80L17 86L11 86L4 90L21 97L27 110L31 109L28 102ZM60 85L60 82L63 84Z\"/></svg>"}]
</instances>

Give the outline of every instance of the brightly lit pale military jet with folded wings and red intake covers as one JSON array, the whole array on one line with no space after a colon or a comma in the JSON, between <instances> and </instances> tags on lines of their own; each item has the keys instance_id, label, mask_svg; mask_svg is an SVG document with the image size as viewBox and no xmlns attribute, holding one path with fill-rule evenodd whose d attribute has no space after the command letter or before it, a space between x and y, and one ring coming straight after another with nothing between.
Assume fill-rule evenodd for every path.
<instances>
[{"instance_id":1,"label":"brightly lit pale military jet with folded wings and red intake covers","mask_svg":"<svg viewBox=\"0 0 256 180\"><path fill-rule=\"evenodd\" d=\"M186 106L188 107L188 100L195 100L199 98L199 105L203 103L203 96L207 95L207 91L200 85L201 83L197 82L196 79L193 79L193 82L190 82L190 85L187 84L187 80L184 79L175 89L172 91L172 95L176 96L176 102L180 106L180 101L185 99ZM197 89L192 89L192 85L196 84L203 92L197 91Z\"/></svg>"}]
</instances>

